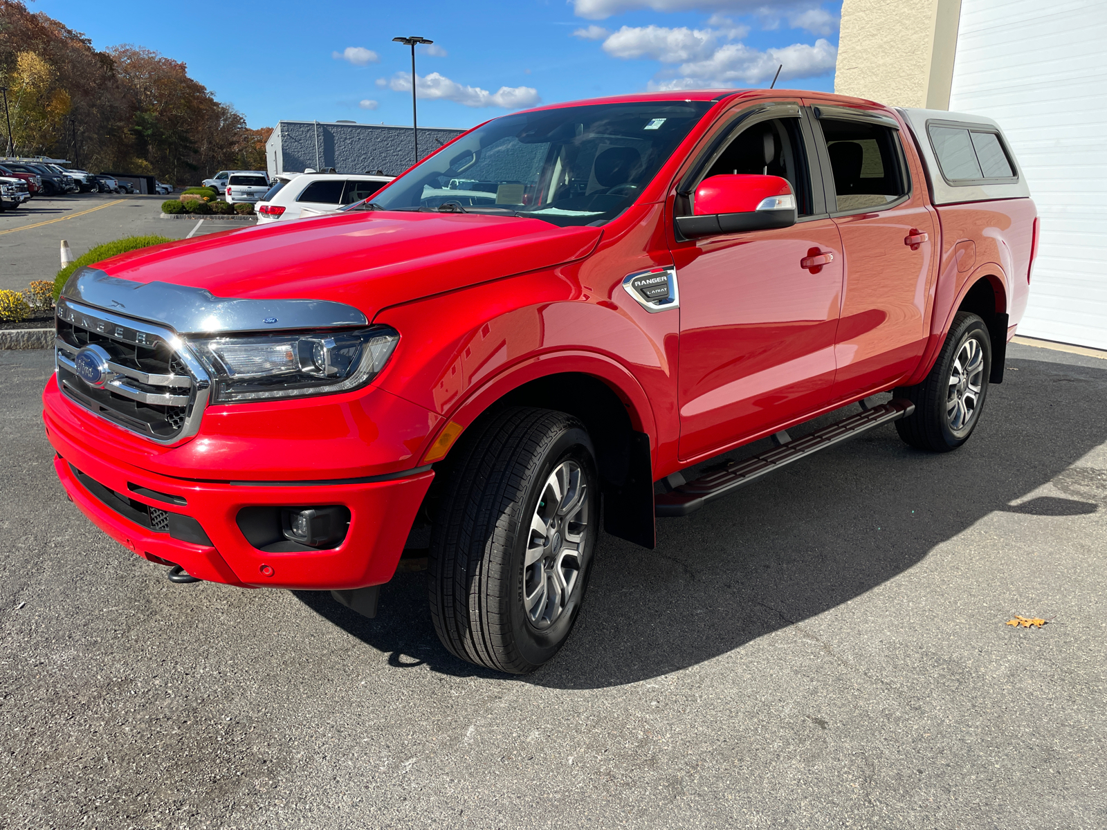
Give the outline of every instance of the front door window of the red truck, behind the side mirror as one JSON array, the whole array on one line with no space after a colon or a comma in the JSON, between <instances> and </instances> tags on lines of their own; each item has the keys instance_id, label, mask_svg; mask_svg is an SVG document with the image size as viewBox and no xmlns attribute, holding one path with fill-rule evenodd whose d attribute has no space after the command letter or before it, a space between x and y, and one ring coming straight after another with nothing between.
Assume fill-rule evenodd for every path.
<instances>
[{"instance_id":1,"label":"front door window of the red truck, behind the side mirror","mask_svg":"<svg viewBox=\"0 0 1107 830\"><path fill-rule=\"evenodd\" d=\"M798 215L811 216L815 210L799 118L772 118L739 129L703 178L727 174L779 176L792 185Z\"/></svg>"}]
</instances>

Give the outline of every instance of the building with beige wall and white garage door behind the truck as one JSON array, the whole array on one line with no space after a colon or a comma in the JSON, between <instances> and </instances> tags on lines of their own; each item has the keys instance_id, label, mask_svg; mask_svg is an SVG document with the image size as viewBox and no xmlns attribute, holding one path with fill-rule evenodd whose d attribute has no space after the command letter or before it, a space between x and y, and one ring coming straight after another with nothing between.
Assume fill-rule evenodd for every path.
<instances>
[{"instance_id":1,"label":"building with beige wall and white garage door behind the truck","mask_svg":"<svg viewBox=\"0 0 1107 830\"><path fill-rule=\"evenodd\" d=\"M995 118L1042 217L1020 334L1107 349L1107 2L845 0L835 91Z\"/></svg>"}]
</instances>

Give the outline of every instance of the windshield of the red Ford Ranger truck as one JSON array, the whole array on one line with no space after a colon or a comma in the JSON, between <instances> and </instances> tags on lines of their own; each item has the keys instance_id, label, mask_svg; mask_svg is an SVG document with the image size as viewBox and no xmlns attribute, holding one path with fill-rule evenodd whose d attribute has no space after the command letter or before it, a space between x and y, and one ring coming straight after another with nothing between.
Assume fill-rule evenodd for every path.
<instances>
[{"instance_id":1,"label":"windshield of the red Ford Ranger truck","mask_svg":"<svg viewBox=\"0 0 1107 830\"><path fill-rule=\"evenodd\" d=\"M710 107L656 101L505 115L404 174L373 205L603 225L638 198Z\"/></svg>"}]
</instances>

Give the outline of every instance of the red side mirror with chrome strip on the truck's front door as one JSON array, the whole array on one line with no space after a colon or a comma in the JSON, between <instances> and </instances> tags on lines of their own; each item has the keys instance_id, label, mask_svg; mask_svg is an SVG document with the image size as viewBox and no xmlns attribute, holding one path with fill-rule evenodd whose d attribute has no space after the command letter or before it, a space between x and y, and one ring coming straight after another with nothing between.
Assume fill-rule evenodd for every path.
<instances>
[{"instance_id":1,"label":"red side mirror with chrome strip on the truck's front door","mask_svg":"<svg viewBox=\"0 0 1107 830\"><path fill-rule=\"evenodd\" d=\"M796 197L779 176L710 176L695 189L692 212L676 217L677 229L690 239L788 228L796 224Z\"/></svg>"}]
</instances>

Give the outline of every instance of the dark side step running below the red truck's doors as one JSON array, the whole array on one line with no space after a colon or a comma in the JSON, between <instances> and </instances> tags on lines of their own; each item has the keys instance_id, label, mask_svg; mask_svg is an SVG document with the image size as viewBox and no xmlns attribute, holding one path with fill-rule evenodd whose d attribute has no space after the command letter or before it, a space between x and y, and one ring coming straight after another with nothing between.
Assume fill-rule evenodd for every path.
<instances>
[{"instance_id":1,"label":"dark side step running below the red truck's doors","mask_svg":"<svg viewBox=\"0 0 1107 830\"><path fill-rule=\"evenodd\" d=\"M707 473L694 481L675 487L670 492L654 497L654 512L658 516L687 516L708 501L745 487L758 478L798 461L820 449L840 444L847 438L868 432L881 424L906 418L914 412L914 404L898 397L887 404L872 406L857 415L850 415L836 424L825 426L803 438L792 439L786 432L774 438L779 446L739 461L731 461L721 469Z\"/></svg>"}]
</instances>

